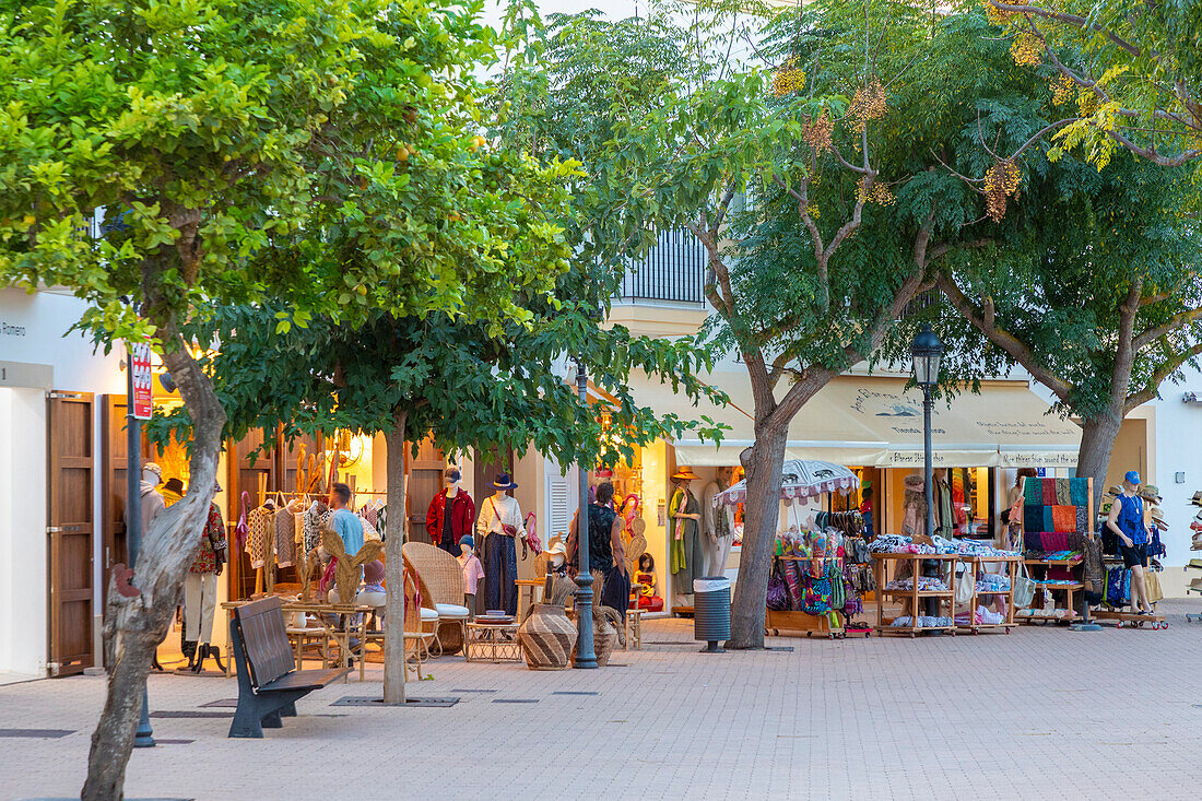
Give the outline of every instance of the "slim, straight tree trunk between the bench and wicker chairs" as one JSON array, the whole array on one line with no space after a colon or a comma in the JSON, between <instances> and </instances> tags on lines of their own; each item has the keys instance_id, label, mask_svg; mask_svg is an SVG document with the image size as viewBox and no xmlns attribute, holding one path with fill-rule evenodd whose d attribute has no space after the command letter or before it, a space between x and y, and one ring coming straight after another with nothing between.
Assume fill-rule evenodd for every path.
<instances>
[{"instance_id":1,"label":"slim, straight tree trunk between the bench and wicker chairs","mask_svg":"<svg viewBox=\"0 0 1202 801\"><path fill-rule=\"evenodd\" d=\"M405 702L405 420L397 413L395 427L385 434L388 450L388 520L385 522L385 585L388 587L383 636L383 701Z\"/></svg>"}]
</instances>

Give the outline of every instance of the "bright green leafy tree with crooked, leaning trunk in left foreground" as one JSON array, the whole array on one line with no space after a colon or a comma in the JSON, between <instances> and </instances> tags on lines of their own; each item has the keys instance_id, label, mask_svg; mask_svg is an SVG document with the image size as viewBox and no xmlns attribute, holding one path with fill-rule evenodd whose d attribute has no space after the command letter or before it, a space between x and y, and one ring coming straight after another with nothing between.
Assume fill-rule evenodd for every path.
<instances>
[{"instance_id":1,"label":"bright green leafy tree with crooked, leaning trunk in left foreground","mask_svg":"<svg viewBox=\"0 0 1202 801\"><path fill-rule=\"evenodd\" d=\"M185 328L213 304L439 310L493 331L570 251L570 166L476 134L477 6L447 0L4 0L0 280L70 287L82 324L151 338L192 422L191 491L109 592L108 696L87 799L120 797L155 646L200 541L225 414ZM102 209L106 233L81 235ZM132 299L132 303L129 302ZM208 343L200 343L207 345Z\"/></svg>"}]
</instances>

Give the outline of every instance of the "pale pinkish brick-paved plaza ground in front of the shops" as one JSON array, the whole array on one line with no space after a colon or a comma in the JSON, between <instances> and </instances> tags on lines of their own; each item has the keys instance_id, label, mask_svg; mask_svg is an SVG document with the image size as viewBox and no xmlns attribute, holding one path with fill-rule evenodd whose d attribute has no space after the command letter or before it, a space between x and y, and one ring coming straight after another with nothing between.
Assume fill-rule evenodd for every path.
<instances>
[{"instance_id":1,"label":"pale pinkish brick-paved plaza ground in front of the shops","mask_svg":"<svg viewBox=\"0 0 1202 801\"><path fill-rule=\"evenodd\" d=\"M332 706L381 693L374 666L297 704L264 740L227 740L233 680L150 681L163 744L130 797L1186 799L1202 787L1202 624L844 641L707 655L688 621L649 621L597 671L444 658L411 695L450 708ZM0 687L0 797L78 796L105 680ZM69 734L63 735L66 731ZM10 732L11 734L11 732Z\"/></svg>"}]
</instances>

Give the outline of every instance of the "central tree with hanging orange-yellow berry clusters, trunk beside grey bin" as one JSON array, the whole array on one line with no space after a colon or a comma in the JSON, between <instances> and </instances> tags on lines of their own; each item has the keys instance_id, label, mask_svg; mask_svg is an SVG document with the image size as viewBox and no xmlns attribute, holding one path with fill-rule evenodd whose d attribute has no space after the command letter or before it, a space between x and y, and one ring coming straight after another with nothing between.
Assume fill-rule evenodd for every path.
<instances>
[{"instance_id":1,"label":"central tree with hanging orange-yellow berry clusters, trunk beside grey bin","mask_svg":"<svg viewBox=\"0 0 1202 801\"><path fill-rule=\"evenodd\" d=\"M576 63L613 60L607 41L655 38L683 55L633 109L612 103L613 142L584 172L625 254L656 230L694 233L708 256L714 342L746 364L756 443L742 457L737 648L763 642L790 421L873 357L909 301L934 286L933 262L980 244L972 194L933 154L963 144L962 99L923 107L945 77L926 65L942 47L941 19L886 2L756 12L655 7L621 23L626 37L573 42L585 53Z\"/></svg>"}]
</instances>

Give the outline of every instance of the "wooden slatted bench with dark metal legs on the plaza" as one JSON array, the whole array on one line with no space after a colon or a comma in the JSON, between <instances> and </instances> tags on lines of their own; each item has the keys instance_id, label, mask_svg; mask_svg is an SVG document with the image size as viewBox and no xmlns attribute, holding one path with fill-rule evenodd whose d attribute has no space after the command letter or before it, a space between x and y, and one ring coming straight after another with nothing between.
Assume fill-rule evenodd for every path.
<instances>
[{"instance_id":1,"label":"wooden slatted bench with dark metal legs on the plaza","mask_svg":"<svg viewBox=\"0 0 1202 801\"><path fill-rule=\"evenodd\" d=\"M280 717L294 718L296 701L338 681L350 668L296 670L279 598L238 607L230 621L230 642L238 665L238 708L231 737L262 737L280 729Z\"/></svg>"}]
</instances>

